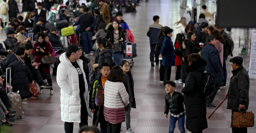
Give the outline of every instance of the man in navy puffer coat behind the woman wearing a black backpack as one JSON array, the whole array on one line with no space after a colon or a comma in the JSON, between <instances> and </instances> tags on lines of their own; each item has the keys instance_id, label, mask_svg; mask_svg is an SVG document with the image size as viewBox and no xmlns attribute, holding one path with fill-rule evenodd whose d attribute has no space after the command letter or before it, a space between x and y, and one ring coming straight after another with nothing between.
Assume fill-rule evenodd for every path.
<instances>
[{"instance_id":1,"label":"man in navy puffer coat behind the woman wearing a black backpack","mask_svg":"<svg viewBox=\"0 0 256 133\"><path fill-rule=\"evenodd\" d=\"M206 37L207 45L203 47L201 51L202 59L207 61L207 65L205 66L205 70L213 74L215 78L215 88L212 94L207 97L207 107L216 106L212 103L214 100L218 89L220 88L220 83L223 80L223 69L222 64L220 62L220 54L216 49L216 39L214 35L208 35Z\"/></svg>"}]
</instances>

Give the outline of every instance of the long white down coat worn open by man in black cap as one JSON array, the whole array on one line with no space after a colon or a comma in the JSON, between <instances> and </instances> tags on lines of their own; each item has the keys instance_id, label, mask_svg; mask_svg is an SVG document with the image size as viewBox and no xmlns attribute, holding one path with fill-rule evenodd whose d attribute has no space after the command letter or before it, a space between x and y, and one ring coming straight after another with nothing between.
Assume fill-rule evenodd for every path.
<instances>
[{"instance_id":1,"label":"long white down coat worn open by man in black cap","mask_svg":"<svg viewBox=\"0 0 256 133\"><path fill-rule=\"evenodd\" d=\"M69 61L66 52L60 56L60 64L57 69L57 83L60 86L60 107L61 107L61 120L64 122L78 122L81 119L81 100L79 95L79 78L76 68ZM86 102L86 108L88 116L92 118L92 113L89 108L89 93L88 85L86 82L86 76L83 70L83 61L78 59L79 65L84 76L84 100Z\"/></svg>"}]
</instances>

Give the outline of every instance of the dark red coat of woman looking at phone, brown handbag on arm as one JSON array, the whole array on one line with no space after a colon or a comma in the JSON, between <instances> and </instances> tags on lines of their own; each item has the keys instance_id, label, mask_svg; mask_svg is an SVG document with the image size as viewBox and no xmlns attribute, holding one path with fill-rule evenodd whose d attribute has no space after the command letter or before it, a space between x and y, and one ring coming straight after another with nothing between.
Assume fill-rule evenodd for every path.
<instances>
[{"instance_id":1,"label":"dark red coat of woman looking at phone, brown handbag on arm","mask_svg":"<svg viewBox=\"0 0 256 133\"><path fill-rule=\"evenodd\" d=\"M44 53L42 53L41 51L37 52L36 47L39 47L38 42L36 42L34 44L34 48L33 48L33 51L32 51L32 55L35 56L34 62L36 62L36 63L42 63L42 57L44 55L49 55L49 52L50 52L50 54L52 54L52 47L47 42L45 42L45 45L44 45L44 47L45 47ZM42 49L44 49L44 48L42 48ZM40 64L38 69L40 70L40 72L42 72L42 74L50 73L50 65Z\"/></svg>"}]
</instances>

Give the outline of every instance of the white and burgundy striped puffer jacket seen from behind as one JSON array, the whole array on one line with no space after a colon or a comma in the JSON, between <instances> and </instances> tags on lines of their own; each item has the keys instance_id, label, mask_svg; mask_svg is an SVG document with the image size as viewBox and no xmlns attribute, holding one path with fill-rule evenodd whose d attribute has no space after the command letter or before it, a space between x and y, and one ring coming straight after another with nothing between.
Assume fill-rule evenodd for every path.
<instances>
[{"instance_id":1,"label":"white and burgundy striped puffer jacket seen from behind","mask_svg":"<svg viewBox=\"0 0 256 133\"><path fill-rule=\"evenodd\" d=\"M121 82L106 81L104 85L104 117L111 123L125 121L124 107L128 105L129 95Z\"/></svg>"}]
</instances>

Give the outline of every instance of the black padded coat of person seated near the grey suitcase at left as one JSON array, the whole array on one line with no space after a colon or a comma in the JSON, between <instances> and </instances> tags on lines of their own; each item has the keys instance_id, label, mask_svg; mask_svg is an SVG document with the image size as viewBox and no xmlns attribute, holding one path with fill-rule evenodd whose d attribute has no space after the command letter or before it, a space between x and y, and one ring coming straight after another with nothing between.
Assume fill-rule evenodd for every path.
<instances>
[{"instance_id":1,"label":"black padded coat of person seated near the grey suitcase at left","mask_svg":"<svg viewBox=\"0 0 256 133\"><path fill-rule=\"evenodd\" d=\"M21 61L14 61L8 67L12 68L12 90L13 92L20 91L19 94L22 99L30 97L30 91L28 83L33 82L32 74L25 63ZM7 72L8 79L4 79L4 83L6 80L10 79L10 71Z\"/></svg>"}]
</instances>

